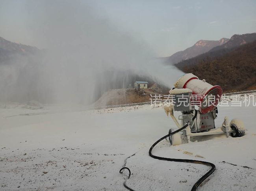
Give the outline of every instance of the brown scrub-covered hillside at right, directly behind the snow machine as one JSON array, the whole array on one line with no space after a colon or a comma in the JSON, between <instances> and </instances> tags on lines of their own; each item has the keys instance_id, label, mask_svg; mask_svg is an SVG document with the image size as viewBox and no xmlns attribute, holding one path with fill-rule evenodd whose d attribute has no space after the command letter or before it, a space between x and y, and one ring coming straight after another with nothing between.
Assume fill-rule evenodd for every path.
<instances>
[{"instance_id":1,"label":"brown scrub-covered hillside at right, directly behind the snow machine","mask_svg":"<svg viewBox=\"0 0 256 191\"><path fill-rule=\"evenodd\" d=\"M200 61L197 65L183 67L185 73L193 73L224 91L251 89L256 85L256 41L241 45L224 56Z\"/></svg>"}]
</instances>

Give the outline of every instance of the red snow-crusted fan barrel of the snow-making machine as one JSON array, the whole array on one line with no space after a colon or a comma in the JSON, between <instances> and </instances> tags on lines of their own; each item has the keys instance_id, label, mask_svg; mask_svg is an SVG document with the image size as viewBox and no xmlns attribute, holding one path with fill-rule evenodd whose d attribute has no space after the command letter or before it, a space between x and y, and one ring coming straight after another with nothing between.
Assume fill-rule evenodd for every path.
<instances>
[{"instance_id":1,"label":"red snow-crusted fan barrel of the snow-making machine","mask_svg":"<svg viewBox=\"0 0 256 191\"><path fill-rule=\"evenodd\" d=\"M212 111L218 105L222 95L222 89L219 85L213 86L205 82L205 80L199 80L199 78L192 73L185 74L178 79L174 87L178 89L191 89L191 103L198 106L202 114Z\"/></svg>"}]
</instances>

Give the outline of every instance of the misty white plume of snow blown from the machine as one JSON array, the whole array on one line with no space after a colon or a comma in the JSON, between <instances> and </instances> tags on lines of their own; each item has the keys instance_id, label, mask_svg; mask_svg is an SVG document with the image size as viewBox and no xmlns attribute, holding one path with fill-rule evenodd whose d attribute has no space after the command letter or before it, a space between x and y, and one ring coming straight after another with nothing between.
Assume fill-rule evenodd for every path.
<instances>
[{"instance_id":1,"label":"misty white plume of snow blown from the machine","mask_svg":"<svg viewBox=\"0 0 256 191\"><path fill-rule=\"evenodd\" d=\"M169 87L182 75L83 2L30 1L28 15L32 38L47 51L37 60L12 64L11 80L0 82L5 100L91 104L111 87L126 87L120 81L130 79L120 71L151 76Z\"/></svg>"}]
</instances>

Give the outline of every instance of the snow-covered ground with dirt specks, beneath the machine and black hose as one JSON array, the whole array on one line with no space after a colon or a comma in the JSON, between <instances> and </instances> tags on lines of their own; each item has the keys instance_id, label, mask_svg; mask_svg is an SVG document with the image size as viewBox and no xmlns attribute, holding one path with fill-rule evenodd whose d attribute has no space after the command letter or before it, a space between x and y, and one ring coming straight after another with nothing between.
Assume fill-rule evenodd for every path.
<instances>
[{"instance_id":1,"label":"snow-covered ground with dirt specks, beneath the machine and black hose","mask_svg":"<svg viewBox=\"0 0 256 191\"><path fill-rule=\"evenodd\" d=\"M119 174L119 169L124 159L136 152L126 164L133 173L127 184L136 191L189 191L209 169L148 156L149 147L175 127L161 107L72 108L65 112L54 106L2 108L0 190L125 191L122 184L128 173ZM216 171L199 191L256 190L256 106L218 109L216 126L221 126L224 116L241 118L246 135L208 136L180 146L162 141L153 153L215 164Z\"/></svg>"}]
</instances>

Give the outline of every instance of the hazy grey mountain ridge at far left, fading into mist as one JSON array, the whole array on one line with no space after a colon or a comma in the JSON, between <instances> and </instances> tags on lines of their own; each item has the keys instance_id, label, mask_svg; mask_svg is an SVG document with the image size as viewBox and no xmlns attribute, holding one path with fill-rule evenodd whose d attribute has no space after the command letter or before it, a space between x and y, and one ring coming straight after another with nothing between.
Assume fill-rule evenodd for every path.
<instances>
[{"instance_id":1,"label":"hazy grey mountain ridge at far left, fading into mist","mask_svg":"<svg viewBox=\"0 0 256 191\"><path fill-rule=\"evenodd\" d=\"M40 53L37 47L11 42L0 37L0 63L15 56L28 56Z\"/></svg>"}]
</instances>

